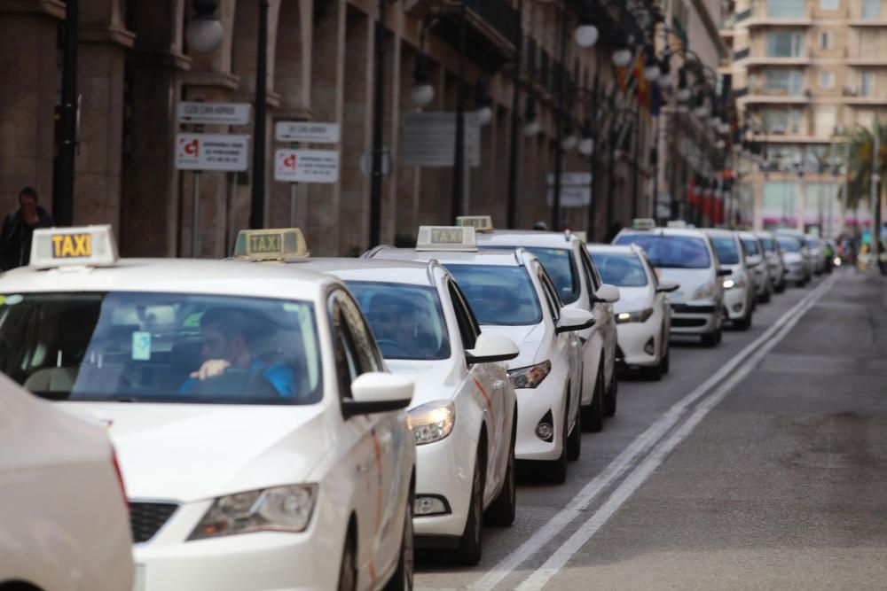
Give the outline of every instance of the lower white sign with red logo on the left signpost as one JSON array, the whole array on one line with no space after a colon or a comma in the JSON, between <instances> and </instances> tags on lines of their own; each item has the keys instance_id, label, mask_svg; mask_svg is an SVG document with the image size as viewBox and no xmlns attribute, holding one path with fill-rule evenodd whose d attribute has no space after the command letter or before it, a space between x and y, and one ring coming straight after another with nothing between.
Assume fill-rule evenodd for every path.
<instances>
[{"instance_id":1,"label":"lower white sign with red logo on the left signpost","mask_svg":"<svg viewBox=\"0 0 887 591\"><path fill-rule=\"evenodd\" d=\"M178 134L176 167L179 170L232 170L248 168L249 136Z\"/></svg>"}]
</instances>

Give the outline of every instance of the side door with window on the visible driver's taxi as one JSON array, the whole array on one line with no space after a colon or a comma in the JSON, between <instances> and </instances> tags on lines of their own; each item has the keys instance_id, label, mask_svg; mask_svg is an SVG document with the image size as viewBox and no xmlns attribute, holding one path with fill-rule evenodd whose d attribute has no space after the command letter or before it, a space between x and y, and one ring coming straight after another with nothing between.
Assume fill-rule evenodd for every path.
<instances>
[{"instance_id":1,"label":"side door with window on the visible driver's taxi","mask_svg":"<svg viewBox=\"0 0 887 591\"><path fill-rule=\"evenodd\" d=\"M343 289L329 299L329 314L336 346L339 387L350 397L350 385L368 371L382 371L381 355L357 303ZM375 580L397 559L400 548L403 503L409 482L404 483L405 437L397 413L351 416L346 421L353 440L358 492L357 572L359 580ZM409 472L406 471L408 474Z\"/></svg>"}]
</instances>

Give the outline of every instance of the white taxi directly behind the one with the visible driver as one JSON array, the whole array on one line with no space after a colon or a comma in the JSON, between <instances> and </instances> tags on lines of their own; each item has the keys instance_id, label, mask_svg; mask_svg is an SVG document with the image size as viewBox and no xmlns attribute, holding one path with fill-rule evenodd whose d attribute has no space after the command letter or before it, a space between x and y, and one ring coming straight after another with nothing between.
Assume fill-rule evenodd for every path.
<instances>
[{"instance_id":1,"label":"white taxi directly behind the one with the visible driver","mask_svg":"<svg viewBox=\"0 0 887 591\"><path fill-rule=\"evenodd\" d=\"M313 259L296 263L348 284L389 369L414 380L417 547L481 558L481 525L511 525L516 508L517 399L504 362L514 342L481 332L436 262ZM485 511L485 514L484 514Z\"/></svg>"}]
</instances>

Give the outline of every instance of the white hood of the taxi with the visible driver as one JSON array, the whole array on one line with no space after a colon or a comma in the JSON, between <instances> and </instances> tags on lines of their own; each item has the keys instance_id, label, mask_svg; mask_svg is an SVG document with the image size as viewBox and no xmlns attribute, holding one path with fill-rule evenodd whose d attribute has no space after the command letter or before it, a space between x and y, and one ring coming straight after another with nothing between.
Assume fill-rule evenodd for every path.
<instances>
[{"instance_id":1,"label":"white hood of the taxi with the visible driver","mask_svg":"<svg viewBox=\"0 0 887 591\"><path fill-rule=\"evenodd\" d=\"M61 405L107 425L132 499L191 502L304 482L334 443L319 404Z\"/></svg>"}]
</instances>

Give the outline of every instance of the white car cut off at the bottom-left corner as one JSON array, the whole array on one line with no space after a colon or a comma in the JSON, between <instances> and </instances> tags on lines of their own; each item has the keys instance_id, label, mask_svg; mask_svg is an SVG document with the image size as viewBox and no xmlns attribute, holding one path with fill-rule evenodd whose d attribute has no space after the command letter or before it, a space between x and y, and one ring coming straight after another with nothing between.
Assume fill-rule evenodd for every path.
<instances>
[{"instance_id":1,"label":"white car cut off at the bottom-left corner","mask_svg":"<svg viewBox=\"0 0 887 591\"><path fill-rule=\"evenodd\" d=\"M14 307L0 304L0 323ZM0 369L14 375L9 354ZM130 517L104 425L52 408L4 375L0 416L0 589L132 588Z\"/></svg>"}]
</instances>

